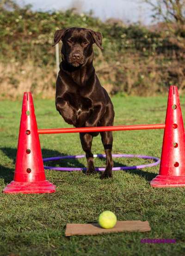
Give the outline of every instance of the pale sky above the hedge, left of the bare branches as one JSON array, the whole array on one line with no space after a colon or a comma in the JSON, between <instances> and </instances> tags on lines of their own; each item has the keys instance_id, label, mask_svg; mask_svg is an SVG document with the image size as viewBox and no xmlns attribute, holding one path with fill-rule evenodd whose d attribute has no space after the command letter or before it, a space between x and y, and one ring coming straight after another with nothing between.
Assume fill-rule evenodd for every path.
<instances>
[{"instance_id":1,"label":"pale sky above the hedge, left of the bare branches","mask_svg":"<svg viewBox=\"0 0 185 256\"><path fill-rule=\"evenodd\" d=\"M31 4L33 10L66 10L77 7L80 13L93 10L93 16L102 20L122 19L125 23L140 21L144 25L152 22L151 9L142 0L17 0L19 4Z\"/></svg>"}]
</instances>

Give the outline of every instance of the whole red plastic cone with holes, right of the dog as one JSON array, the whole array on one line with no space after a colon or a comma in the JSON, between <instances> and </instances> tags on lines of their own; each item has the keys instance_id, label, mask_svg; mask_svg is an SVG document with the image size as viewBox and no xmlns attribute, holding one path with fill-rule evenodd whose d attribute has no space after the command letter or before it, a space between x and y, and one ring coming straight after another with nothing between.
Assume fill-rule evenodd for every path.
<instances>
[{"instance_id":1,"label":"whole red plastic cone with holes, right of the dog","mask_svg":"<svg viewBox=\"0 0 185 256\"><path fill-rule=\"evenodd\" d=\"M170 86L166 110L160 172L150 185L185 186L185 128L177 86Z\"/></svg>"}]
</instances>

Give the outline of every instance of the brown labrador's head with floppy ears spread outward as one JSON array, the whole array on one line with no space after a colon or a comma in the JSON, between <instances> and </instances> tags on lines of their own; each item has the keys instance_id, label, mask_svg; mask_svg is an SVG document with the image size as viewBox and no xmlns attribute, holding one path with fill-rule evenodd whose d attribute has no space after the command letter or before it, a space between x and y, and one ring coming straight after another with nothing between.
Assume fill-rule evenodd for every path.
<instances>
[{"instance_id":1,"label":"brown labrador's head with floppy ears spread outward","mask_svg":"<svg viewBox=\"0 0 185 256\"><path fill-rule=\"evenodd\" d=\"M62 57L74 67L86 64L93 53L93 44L103 50L102 35L85 28L67 28L55 32L54 45L62 40Z\"/></svg>"}]
</instances>

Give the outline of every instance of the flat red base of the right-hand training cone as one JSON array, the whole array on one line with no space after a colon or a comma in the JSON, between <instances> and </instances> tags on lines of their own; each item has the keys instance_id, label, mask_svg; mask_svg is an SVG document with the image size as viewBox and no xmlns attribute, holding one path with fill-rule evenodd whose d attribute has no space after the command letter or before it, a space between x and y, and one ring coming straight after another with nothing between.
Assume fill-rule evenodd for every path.
<instances>
[{"instance_id":1,"label":"flat red base of the right-hand training cone","mask_svg":"<svg viewBox=\"0 0 185 256\"><path fill-rule=\"evenodd\" d=\"M150 181L153 187L178 187L185 186L185 176L157 175Z\"/></svg>"}]
</instances>

